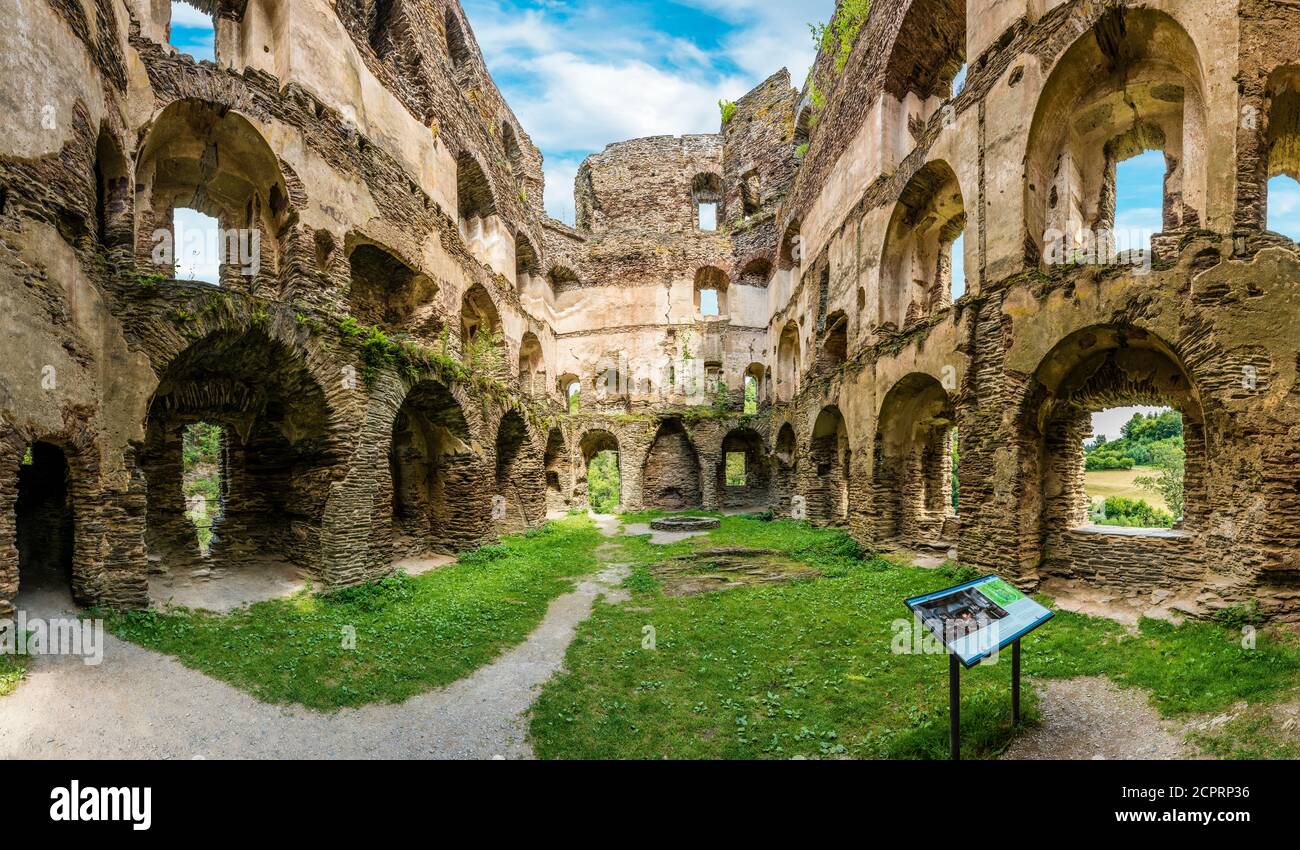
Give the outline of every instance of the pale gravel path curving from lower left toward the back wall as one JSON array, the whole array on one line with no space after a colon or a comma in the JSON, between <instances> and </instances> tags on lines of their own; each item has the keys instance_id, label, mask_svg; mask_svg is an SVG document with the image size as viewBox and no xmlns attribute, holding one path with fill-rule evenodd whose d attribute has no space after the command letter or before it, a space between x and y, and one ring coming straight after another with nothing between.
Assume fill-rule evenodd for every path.
<instances>
[{"instance_id":1,"label":"pale gravel path curving from lower left toward the back wall","mask_svg":"<svg viewBox=\"0 0 1300 850\"><path fill-rule=\"evenodd\" d=\"M597 517L606 535L615 517ZM599 558L616 551L604 543ZM551 600L528 639L438 690L390 706L318 714L270 706L166 655L104 638L104 662L32 659L27 681L0 698L0 758L532 758L526 712L563 664L577 624L598 597L621 599L627 565ZM32 616L57 598L23 600ZM34 611L35 610L35 611Z\"/></svg>"}]
</instances>

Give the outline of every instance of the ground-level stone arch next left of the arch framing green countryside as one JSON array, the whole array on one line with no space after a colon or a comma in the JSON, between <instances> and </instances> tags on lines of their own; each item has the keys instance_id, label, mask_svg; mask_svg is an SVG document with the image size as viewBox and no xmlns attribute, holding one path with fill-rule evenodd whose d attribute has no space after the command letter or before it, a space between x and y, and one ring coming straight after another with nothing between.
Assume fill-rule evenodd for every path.
<instances>
[{"instance_id":1,"label":"ground-level stone arch next left of the arch framing green countryside","mask_svg":"<svg viewBox=\"0 0 1300 850\"><path fill-rule=\"evenodd\" d=\"M944 546L953 528L952 399L933 376L914 372L885 394L876 417L871 486L874 537L909 548Z\"/></svg>"}]
</instances>

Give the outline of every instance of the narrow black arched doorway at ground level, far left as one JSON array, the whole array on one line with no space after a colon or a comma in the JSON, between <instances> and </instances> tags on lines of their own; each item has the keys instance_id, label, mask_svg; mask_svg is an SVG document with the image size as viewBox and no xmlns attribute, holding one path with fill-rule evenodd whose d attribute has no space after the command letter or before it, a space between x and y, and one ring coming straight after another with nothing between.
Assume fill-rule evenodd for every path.
<instances>
[{"instance_id":1,"label":"narrow black arched doorway at ground level, far left","mask_svg":"<svg viewBox=\"0 0 1300 850\"><path fill-rule=\"evenodd\" d=\"M64 450L36 442L18 467L14 502L18 586L25 594L66 597L73 580L75 519L72 473Z\"/></svg>"}]
</instances>

